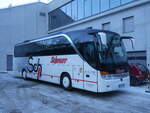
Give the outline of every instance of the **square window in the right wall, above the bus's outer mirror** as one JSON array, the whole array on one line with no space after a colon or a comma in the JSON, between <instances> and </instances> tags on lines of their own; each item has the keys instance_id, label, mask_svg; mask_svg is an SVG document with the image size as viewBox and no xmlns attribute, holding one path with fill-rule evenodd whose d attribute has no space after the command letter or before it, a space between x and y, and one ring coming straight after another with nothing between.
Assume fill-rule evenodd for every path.
<instances>
[{"instance_id":1,"label":"square window in the right wall, above the bus's outer mirror","mask_svg":"<svg viewBox=\"0 0 150 113\"><path fill-rule=\"evenodd\" d=\"M123 18L123 33L134 32L134 17Z\"/></svg>"}]
</instances>

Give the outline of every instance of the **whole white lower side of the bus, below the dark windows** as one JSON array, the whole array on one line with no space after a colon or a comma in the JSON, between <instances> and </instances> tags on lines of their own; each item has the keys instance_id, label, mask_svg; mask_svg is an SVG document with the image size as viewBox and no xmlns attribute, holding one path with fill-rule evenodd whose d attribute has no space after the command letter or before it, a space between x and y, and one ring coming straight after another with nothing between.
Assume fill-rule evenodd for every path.
<instances>
[{"instance_id":1,"label":"whole white lower side of the bus, below the dark windows","mask_svg":"<svg viewBox=\"0 0 150 113\"><path fill-rule=\"evenodd\" d=\"M83 89L83 60L78 55L59 56L37 56L37 57L15 58L15 70L21 74L22 69L26 69L27 77L60 84L60 77L63 72L67 72L72 81L72 87ZM41 75L38 77L37 67L42 67ZM33 67L32 67L33 66ZM33 70L28 71L28 68Z\"/></svg>"}]
</instances>

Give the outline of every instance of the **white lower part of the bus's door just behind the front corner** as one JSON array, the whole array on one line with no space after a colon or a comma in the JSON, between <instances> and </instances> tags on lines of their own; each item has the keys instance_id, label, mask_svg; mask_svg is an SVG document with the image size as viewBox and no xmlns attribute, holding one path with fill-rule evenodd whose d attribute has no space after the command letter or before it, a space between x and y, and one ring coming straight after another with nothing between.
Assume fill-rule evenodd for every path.
<instances>
[{"instance_id":1,"label":"white lower part of the bus's door just behind the front corner","mask_svg":"<svg viewBox=\"0 0 150 113\"><path fill-rule=\"evenodd\" d=\"M84 62L84 89L97 92L98 72L93 69L88 63Z\"/></svg>"}]
</instances>

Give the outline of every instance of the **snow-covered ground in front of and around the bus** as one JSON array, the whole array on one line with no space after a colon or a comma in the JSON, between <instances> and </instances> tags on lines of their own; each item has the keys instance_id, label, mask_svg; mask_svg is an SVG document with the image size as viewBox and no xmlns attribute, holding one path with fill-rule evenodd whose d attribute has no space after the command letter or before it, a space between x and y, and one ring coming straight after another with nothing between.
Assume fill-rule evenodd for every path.
<instances>
[{"instance_id":1,"label":"snow-covered ground in front of and around the bus","mask_svg":"<svg viewBox=\"0 0 150 113\"><path fill-rule=\"evenodd\" d=\"M150 113L145 86L96 94L0 74L0 113Z\"/></svg>"}]
</instances>

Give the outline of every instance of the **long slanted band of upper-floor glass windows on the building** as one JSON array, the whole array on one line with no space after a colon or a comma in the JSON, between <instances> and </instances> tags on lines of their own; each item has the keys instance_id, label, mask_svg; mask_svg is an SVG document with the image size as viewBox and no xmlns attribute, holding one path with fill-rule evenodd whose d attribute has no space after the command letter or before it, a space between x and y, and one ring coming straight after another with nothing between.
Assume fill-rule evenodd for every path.
<instances>
[{"instance_id":1,"label":"long slanted band of upper-floor glass windows on the building","mask_svg":"<svg viewBox=\"0 0 150 113\"><path fill-rule=\"evenodd\" d=\"M49 30L71 24L131 1L136 0L71 0L62 7L48 13Z\"/></svg>"}]
</instances>

